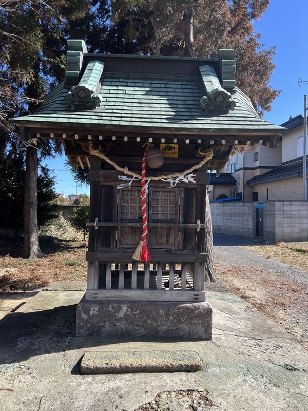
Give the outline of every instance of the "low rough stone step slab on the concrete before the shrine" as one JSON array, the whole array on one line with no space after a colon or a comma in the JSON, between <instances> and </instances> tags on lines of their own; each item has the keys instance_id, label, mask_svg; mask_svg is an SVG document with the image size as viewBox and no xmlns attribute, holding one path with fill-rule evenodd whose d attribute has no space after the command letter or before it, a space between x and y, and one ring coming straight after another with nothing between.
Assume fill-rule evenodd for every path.
<instances>
[{"instance_id":1,"label":"low rough stone step slab on the concrete before the shrine","mask_svg":"<svg viewBox=\"0 0 308 411\"><path fill-rule=\"evenodd\" d=\"M191 372L202 368L202 361L196 351L90 351L82 358L80 372Z\"/></svg>"}]
</instances>

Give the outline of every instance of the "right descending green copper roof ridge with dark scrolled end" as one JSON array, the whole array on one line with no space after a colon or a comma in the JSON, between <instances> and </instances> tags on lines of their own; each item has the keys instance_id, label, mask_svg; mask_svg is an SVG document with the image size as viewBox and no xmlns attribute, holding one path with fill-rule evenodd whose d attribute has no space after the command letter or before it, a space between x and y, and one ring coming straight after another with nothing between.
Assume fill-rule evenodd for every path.
<instances>
[{"instance_id":1,"label":"right descending green copper roof ridge with dark scrolled end","mask_svg":"<svg viewBox=\"0 0 308 411\"><path fill-rule=\"evenodd\" d=\"M232 95L221 87L214 67L205 64L200 66L199 70L206 92L206 96L200 99L202 110L213 114L215 111L219 111L219 114L224 114L221 111L225 111L225 114L227 114L229 110L234 110L236 103Z\"/></svg>"}]
</instances>

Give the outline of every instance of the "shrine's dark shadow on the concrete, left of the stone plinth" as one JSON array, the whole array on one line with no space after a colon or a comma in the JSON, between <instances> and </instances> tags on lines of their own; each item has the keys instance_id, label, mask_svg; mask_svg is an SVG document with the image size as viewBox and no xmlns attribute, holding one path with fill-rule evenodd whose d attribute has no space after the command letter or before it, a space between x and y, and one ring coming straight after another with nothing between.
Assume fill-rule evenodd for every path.
<instances>
[{"instance_id":1,"label":"shrine's dark shadow on the concrete, left of the stone plinth","mask_svg":"<svg viewBox=\"0 0 308 411\"><path fill-rule=\"evenodd\" d=\"M124 342L171 342L167 339L75 337L77 304L32 312L12 312L0 321L0 364L80 348ZM172 342L184 341L172 339ZM79 373L79 362L71 373Z\"/></svg>"}]
</instances>

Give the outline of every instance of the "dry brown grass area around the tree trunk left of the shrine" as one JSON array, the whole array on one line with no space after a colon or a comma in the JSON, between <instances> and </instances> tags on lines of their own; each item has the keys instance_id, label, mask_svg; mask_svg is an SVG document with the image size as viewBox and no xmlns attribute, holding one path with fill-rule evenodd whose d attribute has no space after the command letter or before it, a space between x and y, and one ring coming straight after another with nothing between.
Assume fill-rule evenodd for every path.
<instances>
[{"instance_id":1,"label":"dry brown grass area around the tree trunk left of the shrine","mask_svg":"<svg viewBox=\"0 0 308 411\"><path fill-rule=\"evenodd\" d=\"M0 239L0 292L44 287L52 281L86 278L84 241L41 237L43 258L22 258L22 239Z\"/></svg>"}]
</instances>

